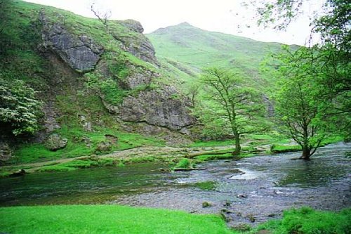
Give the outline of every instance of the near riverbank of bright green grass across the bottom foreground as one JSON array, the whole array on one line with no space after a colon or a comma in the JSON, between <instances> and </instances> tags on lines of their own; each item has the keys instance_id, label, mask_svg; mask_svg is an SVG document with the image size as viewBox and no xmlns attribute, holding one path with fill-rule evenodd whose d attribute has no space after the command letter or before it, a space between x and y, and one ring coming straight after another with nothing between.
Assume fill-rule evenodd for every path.
<instances>
[{"instance_id":1,"label":"near riverbank of bright green grass across the bottom foreground","mask_svg":"<svg viewBox=\"0 0 351 234\"><path fill-rule=\"evenodd\" d=\"M119 205L55 205L0 208L4 233L347 233L351 209L319 212L291 209L282 219L251 229L228 228L219 215L188 214L166 209Z\"/></svg>"}]
</instances>

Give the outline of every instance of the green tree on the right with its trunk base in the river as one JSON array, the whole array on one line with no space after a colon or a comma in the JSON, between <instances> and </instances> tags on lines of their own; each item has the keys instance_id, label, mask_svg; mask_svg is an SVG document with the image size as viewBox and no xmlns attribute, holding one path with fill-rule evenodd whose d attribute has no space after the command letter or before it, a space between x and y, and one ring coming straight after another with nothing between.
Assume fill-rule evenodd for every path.
<instances>
[{"instance_id":1,"label":"green tree on the right with its trunk base in the river","mask_svg":"<svg viewBox=\"0 0 351 234\"><path fill-rule=\"evenodd\" d=\"M279 75L284 77L277 92L277 115L288 129L290 136L301 146L301 159L308 160L328 135L331 102L320 95L322 86L315 82L321 77L318 51L301 47L280 54Z\"/></svg>"}]
</instances>

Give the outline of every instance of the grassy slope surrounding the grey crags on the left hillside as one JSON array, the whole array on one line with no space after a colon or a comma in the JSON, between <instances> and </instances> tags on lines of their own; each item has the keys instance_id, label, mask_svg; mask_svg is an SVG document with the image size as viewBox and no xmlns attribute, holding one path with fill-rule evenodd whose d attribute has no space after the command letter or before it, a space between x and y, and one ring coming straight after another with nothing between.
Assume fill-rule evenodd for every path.
<instances>
[{"instance_id":1,"label":"grassy slope surrounding the grey crags on the left hillside","mask_svg":"<svg viewBox=\"0 0 351 234\"><path fill-rule=\"evenodd\" d=\"M135 72L130 67L136 67L135 70L138 72L155 71L154 65L124 51L121 48L121 41L114 38L117 36L131 39L131 41L142 41L144 39L142 34L130 30L119 21L109 21L112 33L108 34L105 26L97 19L25 1L13 0L5 1L5 3L0 9L0 79L10 84L15 79L20 80L24 82L25 87L29 86L36 91L36 98L43 103L42 118L39 119L41 133L39 132L39 136L36 136L39 141L40 138L43 138L44 125L48 124L44 116L51 117L50 121L55 119L49 124L60 126L53 129L53 133L68 139L65 149L51 152L43 144L33 143L33 139L28 136L9 136L14 156L11 162L34 162L89 155L95 152L99 143L106 141L105 134L119 137L119 143L112 145L112 150L143 145L164 145L164 141L154 137L140 136L135 132L133 134L123 132L119 119L107 111L102 98L96 92L91 91L91 86L88 86L91 84L86 83L87 73L72 70L52 51L45 51L45 49L43 51L43 46L41 46L43 25L39 20L39 15L44 10L51 24L63 25L62 27L74 37L87 35L93 39L95 44L105 49L101 58L102 66L113 70L111 77L105 77L105 80L101 82L103 86L100 84L100 87L103 88L100 89L100 92L105 96L107 102L110 99L117 102L120 96L137 95L139 91L150 89L149 86L143 86L125 91L118 86L119 81L124 78L122 75ZM126 67L126 64L130 66ZM98 74L93 72L95 71L88 72L88 74L98 77ZM82 117L84 122L91 123L90 131L84 129L84 124L81 122ZM1 132L0 142L6 137L6 134L4 131ZM88 142L84 142L84 139Z\"/></svg>"}]
</instances>

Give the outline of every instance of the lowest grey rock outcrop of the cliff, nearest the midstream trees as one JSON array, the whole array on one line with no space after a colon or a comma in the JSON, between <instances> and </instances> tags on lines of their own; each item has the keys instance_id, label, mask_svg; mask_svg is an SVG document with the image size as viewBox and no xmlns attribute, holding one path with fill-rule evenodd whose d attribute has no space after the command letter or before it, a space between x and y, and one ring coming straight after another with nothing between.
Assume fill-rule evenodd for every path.
<instances>
[{"instance_id":1,"label":"lowest grey rock outcrop of the cliff, nearest the midstream trees","mask_svg":"<svg viewBox=\"0 0 351 234\"><path fill-rule=\"evenodd\" d=\"M119 117L127 122L147 122L172 130L191 126L196 122L188 109L191 103L185 98L175 98L177 94L173 87L164 86L162 90L128 96L119 107Z\"/></svg>"}]
</instances>

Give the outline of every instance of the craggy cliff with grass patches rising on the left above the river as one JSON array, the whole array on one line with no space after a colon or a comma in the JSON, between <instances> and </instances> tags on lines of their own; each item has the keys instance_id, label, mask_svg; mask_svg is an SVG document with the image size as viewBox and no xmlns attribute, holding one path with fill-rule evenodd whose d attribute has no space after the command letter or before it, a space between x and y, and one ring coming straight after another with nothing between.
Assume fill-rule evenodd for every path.
<instances>
[{"instance_id":1,"label":"craggy cliff with grass patches rising on the left above the river","mask_svg":"<svg viewBox=\"0 0 351 234\"><path fill-rule=\"evenodd\" d=\"M81 134L118 129L179 142L195 124L190 101L164 82L140 22L111 20L107 30L98 20L55 8L22 1L13 1L11 8L8 17L18 32L6 36L17 40L9 42L8 51L23 63L27 60L20 53L27 51L32 66L18 67L14 57L4 54L1 69L20 70L18 79L38 91L44 116L34 141L45 142L52 132L67 129L68 144L81 144L81 136L70 131L74 128Z\"/></svg>"}]
</instances>

